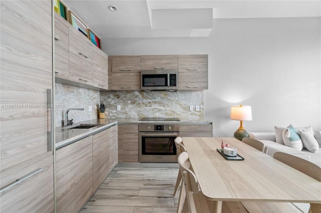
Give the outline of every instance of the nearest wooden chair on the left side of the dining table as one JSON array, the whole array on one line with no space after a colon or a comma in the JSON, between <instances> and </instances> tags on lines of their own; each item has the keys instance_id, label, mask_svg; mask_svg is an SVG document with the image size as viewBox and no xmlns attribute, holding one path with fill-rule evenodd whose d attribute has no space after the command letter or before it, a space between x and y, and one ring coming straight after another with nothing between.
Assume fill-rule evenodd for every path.
<instances>
[{"instance_id":1,"label":"nearest wooden chair on the left side of the dining table","mask_svg":"<svg viewBox=\"0 0 321 213\"><path fill-rule=\"evenodd\" d=\"M241 202L224 201L217 203L208 200L202 191L199 191L197 178L194 172L191 170L191 163L188 153L186 151L182 152L178 157L178 161L180 164L180 171L182 172L183 185L186 192L183 212L217 212L218 209L222 208L222 212L248 213Z\"/></svg>"}]
</instances>

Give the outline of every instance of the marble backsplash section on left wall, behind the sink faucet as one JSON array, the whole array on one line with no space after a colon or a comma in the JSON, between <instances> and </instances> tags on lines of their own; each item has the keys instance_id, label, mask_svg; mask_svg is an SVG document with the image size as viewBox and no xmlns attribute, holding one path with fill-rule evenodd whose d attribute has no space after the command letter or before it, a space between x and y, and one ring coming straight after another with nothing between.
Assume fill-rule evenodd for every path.
<instances>
[{"instance_id":1,"label":"marble backsplash section on left wall, behind the sink faucet","mask_svg":"<svg viewBox=\"0 0 321 213\"><path fill-rule=\"evenodd\" d=\"M68 118L73 118L73 122L97 118L97 106L100 102L99 91L56 83L55 105L63 107L55 108L55 125L62 126L65 119L65 111L68 108L84 108L84 110L71 110ZM88 110L92 106L92 111Z\"/></svg>"}]
</instances>

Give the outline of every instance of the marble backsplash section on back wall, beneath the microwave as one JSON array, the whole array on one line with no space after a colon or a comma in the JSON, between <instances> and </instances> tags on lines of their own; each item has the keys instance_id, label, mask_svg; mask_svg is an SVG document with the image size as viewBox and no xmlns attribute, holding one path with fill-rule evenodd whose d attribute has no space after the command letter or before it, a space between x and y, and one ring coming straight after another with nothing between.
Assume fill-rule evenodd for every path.
<instances>
[{"instance_id":1,"label":"marble backsplash section on back wall, beneath the microwave","mask_svg":"<svg viewBox=\"0 0 321 213\"><path fill-rule=\"evenodd\" d=\"M203 91L101 91L107 117L185 117L204 119ZM117 105L120 110L117 111ZM189 106L194 105L193 111ZM195 105L200 110L195 110Z\"/></svg>"}]
</instances>

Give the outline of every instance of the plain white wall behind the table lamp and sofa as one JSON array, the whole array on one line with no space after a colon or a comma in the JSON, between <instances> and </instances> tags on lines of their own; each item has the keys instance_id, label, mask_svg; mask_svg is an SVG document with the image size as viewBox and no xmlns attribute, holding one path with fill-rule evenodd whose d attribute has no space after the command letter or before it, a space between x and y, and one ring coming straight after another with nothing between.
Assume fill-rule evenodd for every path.
<instances>
[{"instance_id":1,"label":"plain white wall behind the table lamp and sofa","mask_svg":"<svg viewBox=\"0 0 321 213\"><path fill-rule=\"evenodd\" d=\"M252 106L249 131L274 125L321 129L321 18L213 19L209 37L105 38L109 55L208 54L205 119L215 136L232 136L230 106Z\"/></svg>"}]
</instances>

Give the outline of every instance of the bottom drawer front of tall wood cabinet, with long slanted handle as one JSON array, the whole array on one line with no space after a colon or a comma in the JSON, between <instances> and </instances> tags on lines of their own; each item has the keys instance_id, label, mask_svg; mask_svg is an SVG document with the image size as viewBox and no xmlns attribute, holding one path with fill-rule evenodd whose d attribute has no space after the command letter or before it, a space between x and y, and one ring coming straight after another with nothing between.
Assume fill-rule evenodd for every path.
<instances>
[{"instance_id":1,"label":"bottom drawer front of tall wood cabinet, with long slanted handle","mask_svg":"<svg viewBox=\"0 0 321 213\"><path fill-rule=\"evenodd\" d=\"M1 179L2 183L16 180L17 184L2 188L1 212L37 212L44 204L54 211L53 155ZM21 182L18 182L21 179ZM50 211L46 211L50 212Z\"/></svg>"}]
</instances>

